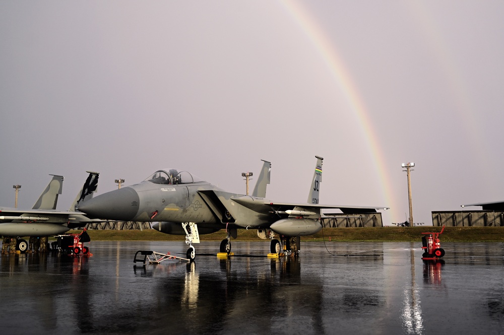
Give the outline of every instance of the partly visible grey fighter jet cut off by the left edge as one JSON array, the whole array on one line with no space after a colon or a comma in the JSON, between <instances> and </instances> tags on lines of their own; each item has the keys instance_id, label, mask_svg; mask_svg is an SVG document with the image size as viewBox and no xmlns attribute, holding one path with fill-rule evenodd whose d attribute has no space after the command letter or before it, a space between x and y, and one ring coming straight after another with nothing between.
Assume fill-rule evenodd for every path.
<instances>
[{"instance_id":1,"label":"partly visible grey fighter jet cut off by the left edge","mask_svg":"<svg viewBox=\"0 0 504 335\"><path fill-rule=\"evenodd\" d=\"M93 196L98 185L98 172L89 173L69 211L56 211L58 195L63 187L62 176L52 175L45 190L31 210L0 208L0 235L16 238L16 249L25 252L28 243L21 237L52 236L63 234L72 228L85 226L90 222L84 213L76 212L79 202Z\"/></svg>"}]
</instances>

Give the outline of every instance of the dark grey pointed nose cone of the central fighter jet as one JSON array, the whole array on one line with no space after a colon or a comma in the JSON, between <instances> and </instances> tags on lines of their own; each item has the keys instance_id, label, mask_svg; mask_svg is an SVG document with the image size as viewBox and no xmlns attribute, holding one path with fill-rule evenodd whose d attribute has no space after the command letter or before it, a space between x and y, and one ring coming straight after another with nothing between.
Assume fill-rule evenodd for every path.
<instances>
[{"instance_id":1,"label":"dark grey pointed nose cone of the central fighter jet","mask_svg":"<svg viewBox=\"0 0 504 335\"><path fill-rule=\"evenodd\" d=\"M87 200L78 210L95 219L134 221L139 203L137 191L123 187Z\"/></svg>"}]
</instances>

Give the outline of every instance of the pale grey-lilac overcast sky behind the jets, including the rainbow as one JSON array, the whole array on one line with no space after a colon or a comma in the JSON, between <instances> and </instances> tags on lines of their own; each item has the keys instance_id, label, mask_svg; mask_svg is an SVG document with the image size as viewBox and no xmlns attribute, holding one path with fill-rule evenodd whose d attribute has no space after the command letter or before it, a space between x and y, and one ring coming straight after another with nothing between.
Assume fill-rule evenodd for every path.
<instances>
[{"instance_id":1,"label":"pale grey-lilac overcast sky behind the jets, including the rainbow","mask_svg":"<svg viewBox=\"0 0 504 335\"><path fill-rule=\"evenodd\" d=\"M184 169L408 214L504 199L504 2L0 1L0 206ZM251 181L251 187L255 180ZM478 209L478 208L474 208Z\"/></svg>"}]
</instances>

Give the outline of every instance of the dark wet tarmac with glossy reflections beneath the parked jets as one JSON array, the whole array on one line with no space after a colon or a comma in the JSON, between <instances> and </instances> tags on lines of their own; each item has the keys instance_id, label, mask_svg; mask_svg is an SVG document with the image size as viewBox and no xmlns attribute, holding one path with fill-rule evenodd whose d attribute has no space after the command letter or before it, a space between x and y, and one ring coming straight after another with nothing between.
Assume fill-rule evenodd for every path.
<instances>
[{"instance_id":1,"label":"dark wet tarmac with glossy reflections beneath the parked jets","mask_svg":"<svg viewBox=\"0 0 504 335\"><path fill-rule=\"evenodd\" d=\"M184 256L182 242L98 242L93 256L2 255L3 334L501 334L504 244L267 242L196 245L196 262L133 263L137 250ZM212 255L213 253L213 255ZM332 253L332 254L331 254Z\"/></svg>"}]
</instances>

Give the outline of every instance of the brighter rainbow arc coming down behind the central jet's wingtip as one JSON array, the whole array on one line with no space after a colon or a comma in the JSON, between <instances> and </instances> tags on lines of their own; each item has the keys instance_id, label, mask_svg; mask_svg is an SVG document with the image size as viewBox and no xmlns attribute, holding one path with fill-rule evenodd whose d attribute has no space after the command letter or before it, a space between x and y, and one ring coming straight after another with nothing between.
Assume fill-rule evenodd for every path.
<instances>
[{"instance_id":1,"label":"brighter rainbow arc coming down behind the central jet's wingtip","mask_svg":"<svg viewBox=\"0 0 504 335\"><path fill-rule=\"evenodd\" d=\"M314 48L316 48L320 53L328 69L331 71L336 83L347 97L348 103L354 111L358 122L361 124L370 153L376 162L378 170L377 174L379 175L383 197L386 202L385 206L397 204L391 193L391 187L388 187L388 185L391 185L390 176L385 168L385 155L382 154L380 141L377 139L376 133L371 126L370 118L364 102L360 98L355 85L352 83L350 74L345 70L345 66L341 61L336 48L333 46L332 41L329 40L318 22L310 15L309 11L302 7L301 4L287 0L280 0L280 3L290 16L292 16L292 18L300 25Z\"/></svg>"}]
</instances>

